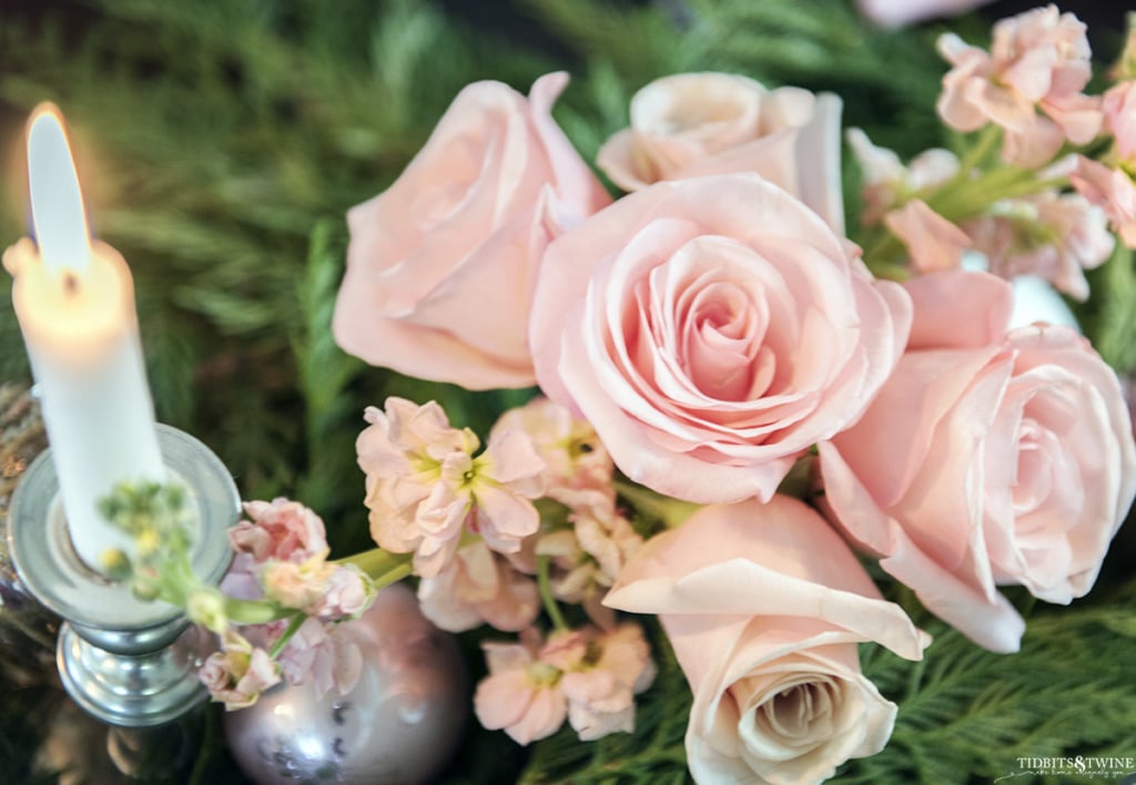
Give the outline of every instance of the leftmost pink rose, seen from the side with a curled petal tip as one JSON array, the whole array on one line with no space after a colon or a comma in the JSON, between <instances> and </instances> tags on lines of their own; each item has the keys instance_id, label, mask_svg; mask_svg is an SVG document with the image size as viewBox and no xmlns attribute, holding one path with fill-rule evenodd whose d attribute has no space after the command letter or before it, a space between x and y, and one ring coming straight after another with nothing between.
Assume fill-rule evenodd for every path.
<instances>
[{"instance_id":1,"label":"leftmost pink rose, seen from the side with a curled petal tip","mask_svg":"<svg viewBox=\"0 0 1136 785\"><path fill-rule=\"evenodd\" d=\"M332 325L345 351L470 390L533 383L544 247L610 201L550 115L567 82L543 76L528 100L467 86L399 179L348 214Z\"/></svg>"}]
</instances>

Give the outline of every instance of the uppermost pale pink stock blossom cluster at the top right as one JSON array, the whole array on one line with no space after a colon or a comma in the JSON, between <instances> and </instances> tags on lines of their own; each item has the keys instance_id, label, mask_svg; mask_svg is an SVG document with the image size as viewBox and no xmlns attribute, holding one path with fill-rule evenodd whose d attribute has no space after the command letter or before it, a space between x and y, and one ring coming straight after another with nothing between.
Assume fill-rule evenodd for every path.
<instances>
[{"instance_id":1,"label":"uppermost pale pink stock blossom cluster at the top right","mask_svg":"<svg viewBox=\"0 0 1136 785\"><path fill-rule=\"evenodd\" d=\"M939 116L958 131L997 124L1011 164L1042 165L1066 140L1086 144L1101 128L1100 101L1080 92L1092 76L1085 25L1056 6L995 24L989 53L954 33L939 37L938 50L954 66L943 77Z\"/></svg>"}]
</instances>

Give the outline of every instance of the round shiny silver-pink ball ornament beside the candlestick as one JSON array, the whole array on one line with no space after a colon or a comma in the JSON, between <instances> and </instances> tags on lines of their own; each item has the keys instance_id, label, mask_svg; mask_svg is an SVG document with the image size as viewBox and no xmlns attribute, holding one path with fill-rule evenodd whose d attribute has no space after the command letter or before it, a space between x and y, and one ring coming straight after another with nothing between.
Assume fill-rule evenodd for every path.
<instances>
[{"instance_id":1,"label":"round shiny silver-pink ball ornament beside the candlestick","mask_svg":"<svg viewBox=\"0 0 1136 785\"><path fill-rule=\"evenodd\" d=\"M281 685L225 715L225 735L259 785L420 785L445 767L469 719L457 640L432 625L402 584L357 621L362 673L346 695Z\"/></svg>"}]
</instances>

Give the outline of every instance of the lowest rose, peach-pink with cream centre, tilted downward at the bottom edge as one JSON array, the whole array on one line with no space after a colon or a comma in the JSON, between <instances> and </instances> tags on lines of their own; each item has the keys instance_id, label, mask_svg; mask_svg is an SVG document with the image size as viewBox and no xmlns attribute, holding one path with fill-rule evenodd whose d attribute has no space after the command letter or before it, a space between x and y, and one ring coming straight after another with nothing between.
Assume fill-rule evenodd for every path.
<instances>
[{"instance_id":1,"label":"lowest rose, peach-pink with cream centre, tilted downward at the bottom edge","mask_svg":"<svg viewBox=\"0 0 1136 785\"><path fill-rule=\"evenodd\" d=\"M860 673L875 641L918 660L929 638L803 502L712 506L653 537L608 604L659 613L694 693L691 773L808 783L887 743L895 705Z\"/></svg>"}]
</instances>

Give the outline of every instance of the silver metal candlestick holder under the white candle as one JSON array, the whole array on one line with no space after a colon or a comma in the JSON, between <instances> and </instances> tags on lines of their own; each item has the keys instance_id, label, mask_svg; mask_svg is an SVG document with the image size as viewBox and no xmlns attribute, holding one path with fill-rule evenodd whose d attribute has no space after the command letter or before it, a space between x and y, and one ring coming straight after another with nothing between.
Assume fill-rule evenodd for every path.
<instances>
[{"instance_id":1,"label":"silver metal candlestick holder under the white candle","mask_svg":"<svg viewBox=\"0 0 1136 785\"><path fill-rule=\"evenodd\" d=\"M240 515L236 485L193 436L159 425L158 443L169 481L195 506L193 571L217 584L232 558L227 531ZM65 620L56 650L60 680L80 707L116 728L170 723L204 696L197 668L206 642L179 608L140 600L78 558L50 453L41 453L16 486L8 543L20 581Z\"/></svg>"}]
</instances>

